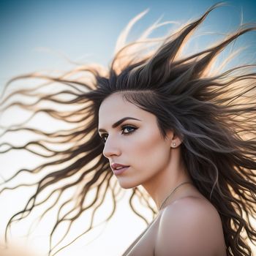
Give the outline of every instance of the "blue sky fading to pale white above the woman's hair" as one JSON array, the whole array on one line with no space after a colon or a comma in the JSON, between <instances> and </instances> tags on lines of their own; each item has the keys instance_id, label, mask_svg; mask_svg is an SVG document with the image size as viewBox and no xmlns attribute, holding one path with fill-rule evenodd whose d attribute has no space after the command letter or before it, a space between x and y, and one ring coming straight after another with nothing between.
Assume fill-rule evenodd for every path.
<instances>
[{"instance_id":1,"label":"blue sky fading to pale white above the woman's hair","mask_svg":"<svg viewBox=\"0 0 256 256\"><path fill-rule=\"evenodd\" d=\"M217 1L81 1L10 0L0 3L0 81L13 75L41 69L68 69L72 60L108 64L118 37L129 20L149 8L135 26L139 33L162 16L162 21L197 18ZM204 25L211 31L237 26L241 11L244 22L256 22L256 1L229 1L208 16ZM256 38L256 33L249 36ZM47 52L42 49L50 49Z\"/></svg>"}]
</instances>

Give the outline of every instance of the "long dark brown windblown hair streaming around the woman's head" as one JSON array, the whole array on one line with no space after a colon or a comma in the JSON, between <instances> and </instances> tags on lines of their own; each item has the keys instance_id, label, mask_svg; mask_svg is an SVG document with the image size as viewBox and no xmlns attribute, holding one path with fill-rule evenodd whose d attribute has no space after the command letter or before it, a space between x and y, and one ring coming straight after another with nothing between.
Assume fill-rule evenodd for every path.
<instances>
[{"instance_id":1,"label":"long dark brown windblown hair streaming around the woman's head","mask_svg":"<svg viewBox=\"0 0 256 256\"><path fill-rule=\"evenodd\" d=\"M7 227L10 227L15 219L27 217L34 208L47 202L57 193L53 205L45 210L43 216L70 188L77 189L70 199L60 206L50 239L61 222L69 223L68 233L73 222L89 209L94 211L91 214L91 225L85 233L91 230L94 214L108 192L113 198L113 211L106 220L113 216L121 188L116 183L108 159L102 155L104 142L97 132L98 110L102 101L110 94L121 92L128 102L157 116L157 124L163 138L168 129L173 129L182 138L181 153L189 175L200 193L217 208L222 219L227 255L252 255L248 241L256 241L256 232L252 226L252 219L256 219L255 64L237 65L223 71L214 67L214 63L227 45L242 34L256 30L256 27L241 25L206 50L186 57L181 54L195 29L205 20L208 13L218 6L219 4L214 5L200 18L165 37L148 37L157 27L165 25L155 23L137 40L127 43L130 29L146 12L140 13L130 21L127 29L124 29L118 38L116 53L108 69L91 64L58 77L34 73L13 78L7 83L6 88L14 81L25 78L47 80L37 88L16 89L5 97L4 91L1 105L6 105L1 111L18 106L31 111L33 116L43 112L72 124L72 129L51 133L26 127L26 122L18 127L4 128L1 136L7 132L22 130L38 134L43 139L32 140L20 147L2 143L1 146L7 148L1 150L1 154L22 149L48 159L48 162L32 170L18 170L14 176L4 181L4 189L12 189L7 185L20 173L42 175L35 184L37 190L34 195L29 198L25 208L10 219ZM73 78L74 75L77 77ZM52 83L61 84L61 91L51 93L45 90L46 92L39 93L39 89ZM8 104L14 95L38 97L38 100L32 104L20 101ZM42 102L76 108L42 108ZM50 148L55 145L66 149L57 151ZM39 147L48 154L39 153ZM51 167L50 172L46 171L48 167ZM95 191L94 199L89 200L89 192L92 189ZM132 210L146 220L132 203L134 198L138 197L155 216L157 211L151 206L150 197L138 188L132 191L129 200ZM39 195L47 196L38 200ZM73 207L65 212L65 206L70 202ZM49 255L54 248L56 246L50 244Z\"/></svg>"}]
</instances>

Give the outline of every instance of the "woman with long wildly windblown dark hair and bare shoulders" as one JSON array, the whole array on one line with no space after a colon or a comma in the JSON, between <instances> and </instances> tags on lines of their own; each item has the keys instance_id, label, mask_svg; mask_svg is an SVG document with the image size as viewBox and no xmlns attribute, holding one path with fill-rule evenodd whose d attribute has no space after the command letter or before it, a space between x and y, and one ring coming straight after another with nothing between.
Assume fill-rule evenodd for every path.
<instances>
[{"instance_id":1,"label":"woman with long wildly windblown dark hair and bare shoulders","mask_svg":"<svg viewBox=\"0 0 256 256\"><path fill-rule=\"evenodd\" d=\"M75 128L53 133L30 127L8 129L25 129L48 138L21 148L53 160L20 172L42 173L45 167L55 170L37 183L37 192L7 227L58 192L44 215L72 187L78 189L61 205L50 238L61 222L69 222L70 227L90 208L94 209L93 219L108 191L114 202L109 219L116 210L119 184L133 190L130 205L136 214L144 218L132 204L135 196L146 201L154 214L151 224L124 255L252 255L248 239L256 241L249 219L255 218L256 213L256 73L253 65L221 72L214 69L214 59L255 27L241 26L206 50L187 57L180 54L193 31L218 5L161 40L147 38L159 24L127 45L124 42L128 31L124 30L109 70L91 65L75 71L86 72L86 80L68 79L74 72L59 78L33 74L19 77L45 78L68 89L61 89L58 94L39 94L36 90L40 88L34 89L35 94L31 89L19 90L14 94L36 95L39 100L30 105L11 102L4 109L19 105L34 113L43 111L75 124ZM131 20L128 28L142 15ZM61 99L64 94L66 97ZM4 97L2 103L10 97L12 94ZM39 108L41 102L78 108ZM60 143L69 148L58 151L49 146ZM29 148L33 144L48 154ZM12 148L15 146L5 151ZM157 211L139 185L154 200ZM45 200L38 200L38 195L53 186ZM96 189L92 201L87 198L91 189ZM61 214L69 202L74 202L73 208ZM91 228L90 225L85 233ZM55 248L50 244L49 255Z\"/></svg>"}]
</instances>

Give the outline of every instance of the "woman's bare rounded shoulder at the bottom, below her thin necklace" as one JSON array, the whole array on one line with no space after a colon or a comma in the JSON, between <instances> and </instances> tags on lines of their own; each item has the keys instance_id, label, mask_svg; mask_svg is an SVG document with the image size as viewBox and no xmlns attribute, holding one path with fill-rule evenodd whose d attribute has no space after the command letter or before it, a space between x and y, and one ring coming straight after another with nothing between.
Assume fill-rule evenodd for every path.
<instances>
[{"instance_id":1,"label":"woman's bare rounded shoulder at the bottom, below her thin necklace","mask_svg":"<svg viewBox=\"0 0 256 256\"><path fill-rule=\"evenodd\" d=\"M183 197L167 206L159 221L155 255L225 256L216 208L199 197Z\"/></svg>"}]
</instances>

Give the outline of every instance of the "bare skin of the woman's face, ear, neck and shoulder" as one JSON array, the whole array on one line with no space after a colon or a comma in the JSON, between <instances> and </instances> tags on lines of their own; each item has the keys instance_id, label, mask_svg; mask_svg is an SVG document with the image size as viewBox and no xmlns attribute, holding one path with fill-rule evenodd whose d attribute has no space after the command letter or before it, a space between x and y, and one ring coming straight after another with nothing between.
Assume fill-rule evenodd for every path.
<instances>
[{"instance_id":1,"label":"bare skin of the woman's face, ear, neck and shoulder","mask_svg":"<svg viewBox=\"0 0 256 256\"><path fill-rule=\"evenodd\" d=\"M125 117L138 120L112 127ZM172 130L162 138L157 117L127 102L120 92L111 94L99 108L99 135L105 141L103 154L110 165L129 165L116 176L120 186L143 186L157 208L173 188L192 182L181 156L181 139ZM125 255L226 255L219 214L193 184L179 187L160 209L154 224L130 247Z\"/></svg>"}]
</instances>

